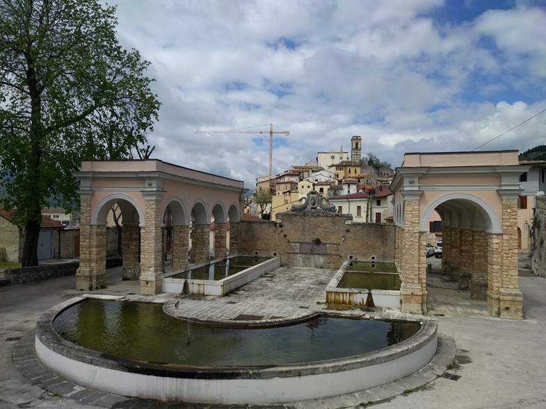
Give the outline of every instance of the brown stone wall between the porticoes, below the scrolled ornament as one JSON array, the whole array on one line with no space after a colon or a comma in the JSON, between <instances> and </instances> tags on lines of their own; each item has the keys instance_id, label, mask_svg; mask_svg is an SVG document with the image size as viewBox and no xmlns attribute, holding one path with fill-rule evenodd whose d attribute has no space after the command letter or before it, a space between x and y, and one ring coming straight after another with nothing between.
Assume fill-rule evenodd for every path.
<instances>
[{"instance_id":1,"label":"brown stone wall between the porticoes, below the scrolled ornament","mask_svg":"<svg viewBox=\"0 0 546 409\"><path fill-rule=\"evenodd\" d=\"M327 220L325 218L328 218ZM355 260L394 262L393 224L347 224L345 215L283 214L278 222L241 222L239 254L281 257L282 265L338 268ZM325 254L303 254L319 242ZM316 247L318 249L319 247Z\"/></svg>"}]
</instances>

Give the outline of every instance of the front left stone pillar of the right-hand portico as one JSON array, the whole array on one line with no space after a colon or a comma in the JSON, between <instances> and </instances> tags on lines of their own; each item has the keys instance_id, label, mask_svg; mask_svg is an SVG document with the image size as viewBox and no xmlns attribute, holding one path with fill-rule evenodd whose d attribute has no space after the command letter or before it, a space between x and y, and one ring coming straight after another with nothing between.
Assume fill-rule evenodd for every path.
<instances>
[{"instance_id":1,"label":"front left stone pillar of the right-hand portico","mask_svg":"<svg viewBox=\"0 0 546 409\"><path fill-rule=\"evenodd\" d=\"M419 200L404 202L403 243L401 245L401 273L402 273L402 312L421 314L423 312L423 289L419 272L420 258L425 253L419 249ZM415 249L415 244L417 249ZM425 296L426 297L426 296ZM425 301L426 302L426 301Z\"/></svg>"}]
</instances>

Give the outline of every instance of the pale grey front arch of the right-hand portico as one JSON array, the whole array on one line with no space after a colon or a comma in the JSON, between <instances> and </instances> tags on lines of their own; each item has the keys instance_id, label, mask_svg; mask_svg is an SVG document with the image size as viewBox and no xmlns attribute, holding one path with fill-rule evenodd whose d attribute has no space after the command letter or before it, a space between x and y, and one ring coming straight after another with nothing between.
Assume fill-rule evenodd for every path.
<instances>
[{"instance_id":1,"label":"pale grey front arch of the right-hand portico","mask_svg":"<svg viewBox=\"0 0 546 409\"><path fill-rule=\"evenodd\" d=\"M436 208L440 209L440 211L437 210L440 217L442 217L442 214L449 214L451 215L451 218L453 218L453 215L456 215L458 217L458 222L460 222L463 219L462 210L465 210L465 219L470 221L469 215L472 213L472 206L474 206L474 210L476 211L474 212L471 226L485 227L487 233L502 233L501 222L490 203L481 199L481 197L468 192L450 192L442 194L442 196L437 197L431 201L431 203L428 203L428 206L424 210L419 221L419 231L427 231L428 219L430 219L433 210L436 210ZM453 223L453 220L451 220L451 223ZM485 226L481 224L485 224Z\"/></svg>"}]
</instances>

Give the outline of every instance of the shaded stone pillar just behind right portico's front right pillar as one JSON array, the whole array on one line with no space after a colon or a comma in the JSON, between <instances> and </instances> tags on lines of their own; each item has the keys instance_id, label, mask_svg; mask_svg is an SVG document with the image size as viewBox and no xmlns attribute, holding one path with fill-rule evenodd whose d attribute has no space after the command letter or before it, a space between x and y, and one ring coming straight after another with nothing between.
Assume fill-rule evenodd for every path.
<instances>
[{"instance_id":1,"label":"shaded stone pillar just behind right portico's front right pillar","mask_svg":"<svg viewBox=\"0 0 546 409\"><path fill-rule=\"evenodd\" d=\"M472 279L470 298L487 299L488 289L488 251L489 235L485 231L472 231Z\"/></svg>"}]
</instances>

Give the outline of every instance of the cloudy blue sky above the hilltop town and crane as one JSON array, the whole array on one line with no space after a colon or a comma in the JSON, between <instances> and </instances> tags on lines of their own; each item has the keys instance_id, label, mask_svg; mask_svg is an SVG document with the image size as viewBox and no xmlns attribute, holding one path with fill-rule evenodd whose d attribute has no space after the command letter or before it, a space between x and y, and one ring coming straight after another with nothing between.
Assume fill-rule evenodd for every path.
<instances>
[{"instance_id":1,"label":"cloudy blue sky above the hilltop town and crane","mask_svg":"<svg viewBox=\"0 0 546 409\"><path fill-rule=\"evenodd\" d=\"M152 158L244 181L374 153L546 144L546 0L117 0L151 62ZM115 0L114 0L115 1ZM261 125L261 126L260 126ZM238 130L260 133L194 133ZM497 139L493 140L495 137Z\"/></svg>"}]
</instances>

